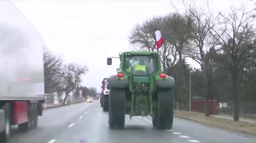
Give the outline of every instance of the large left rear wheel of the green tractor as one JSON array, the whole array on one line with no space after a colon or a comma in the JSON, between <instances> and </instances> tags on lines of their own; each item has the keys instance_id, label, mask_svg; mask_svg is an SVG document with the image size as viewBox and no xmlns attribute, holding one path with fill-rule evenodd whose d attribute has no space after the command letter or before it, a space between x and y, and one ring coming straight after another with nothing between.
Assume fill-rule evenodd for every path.
<instances>
[{"instance_id":1,"label":"large left rear wheel of the green tractor","mask_svg":"<svg viewBox=\"0 0 256 143\"><path fill-rule=\"evenodd\" d=\"M125 90L110 87L108 124L110 129L123 129L125 123Z\"/></svg>"}]
</instances>

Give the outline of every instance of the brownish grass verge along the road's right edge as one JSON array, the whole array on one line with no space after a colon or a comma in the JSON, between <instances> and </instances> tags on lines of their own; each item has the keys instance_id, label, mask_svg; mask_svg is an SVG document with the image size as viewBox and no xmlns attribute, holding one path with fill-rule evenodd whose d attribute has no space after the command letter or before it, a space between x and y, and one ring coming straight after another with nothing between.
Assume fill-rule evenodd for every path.
<instances>
[{"instance_id":1,"label":"brownish grass verge along the road's right edge","mask_svg":"<svg viewBox=\"0 0 256 143\"><path fill-rule=\"evenodd\" d=\"M174 116L206 125L211 125L213 127L222 128L229 131L251 134L252 136L256 137L256 124L250 124L240 121L234 122L233 120L220 119L218 117L212 116L206 117L204 116L203 113L189 111L175 110Z\"/></svg>"}]
</instances>

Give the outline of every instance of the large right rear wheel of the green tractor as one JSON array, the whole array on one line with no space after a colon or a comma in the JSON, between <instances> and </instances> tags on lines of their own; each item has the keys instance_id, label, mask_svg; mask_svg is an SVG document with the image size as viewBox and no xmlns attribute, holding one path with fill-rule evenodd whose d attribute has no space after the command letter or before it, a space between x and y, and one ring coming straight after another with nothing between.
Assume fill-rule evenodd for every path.
<instances>
[{"instance_id":1,"label":"large right rear wheel of the green tractor","mask_svg":"<svg viewBox=\"0 0 256 143\"><path fill-rule=\"evenodd\" d=\"M172 89L158 89L157 129L172 129L174 98Z\"/></svg>"}]
</instances>

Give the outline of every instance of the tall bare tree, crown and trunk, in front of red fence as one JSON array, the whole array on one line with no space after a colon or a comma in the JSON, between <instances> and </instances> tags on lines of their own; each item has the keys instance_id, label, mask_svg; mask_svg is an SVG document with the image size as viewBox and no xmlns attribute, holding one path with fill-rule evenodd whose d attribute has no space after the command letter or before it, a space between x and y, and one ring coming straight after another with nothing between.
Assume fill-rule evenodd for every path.
<instances>
[{"instance_id":1,"label":"tall bare tree, crown and trunk, in front of red fence","mask_svg":"<svg viewBox=\"0 0 256 143\"><path fill-rule=\"evenodd\" d=\"M207 3L206 3L207 5ZM209 111L209 87L207 86L207 60L206 53L209 50L207 38L210 38L210 29L214 27L214 18L208 9L202 5L197 6L195 3L189 3L185 6L185 17L188 20L191 30L191 43L184 49L186 57L192 58L201 66L203 76L203 92L205 97L205 116L210 116ZM213 47L215 46L212 45Z\"/></svg>"}]
</instances>

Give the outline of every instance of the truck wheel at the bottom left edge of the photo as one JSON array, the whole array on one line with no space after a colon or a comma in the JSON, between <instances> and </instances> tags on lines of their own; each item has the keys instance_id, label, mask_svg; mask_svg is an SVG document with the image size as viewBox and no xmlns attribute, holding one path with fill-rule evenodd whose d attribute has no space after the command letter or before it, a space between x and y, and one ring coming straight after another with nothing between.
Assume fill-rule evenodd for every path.
<instances>
[{"instance_id":1,"label":"truck wheel at the bottom left edge of the photo","mask_svg":"<svg viewBox=\"0 0 256 143\"><path fill-rule=\"evenodd\" d=\"M4 131L0 132L0 141L5 142L11 136L11 104L5 103L4 110Z\"/></svg>"}]
</instances>

